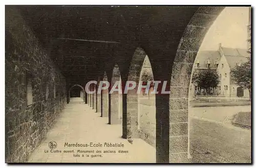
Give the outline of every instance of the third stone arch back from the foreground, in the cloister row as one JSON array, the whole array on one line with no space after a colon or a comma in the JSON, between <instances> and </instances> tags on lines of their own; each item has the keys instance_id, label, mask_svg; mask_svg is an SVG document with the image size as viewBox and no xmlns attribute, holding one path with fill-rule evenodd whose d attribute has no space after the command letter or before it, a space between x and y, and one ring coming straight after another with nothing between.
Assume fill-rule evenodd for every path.
<instances>
[{"instance_id":1,"label":"third stone arch back from the foreground, in the cloister row","mask_svg":"<svg viewBox=\"0 0 256 168\"><path fill-rule=\"evenodd\" d=\"M113 68L113 74L111 79L112 88L115 83L118 81L118 89L122 91L121 85L121 75L118 65L116 64ZM110 124L121 124L122 122L122 92L114 91L111 95L111 110L109 114L109 123Z\"/></svg>"}]
</instances>

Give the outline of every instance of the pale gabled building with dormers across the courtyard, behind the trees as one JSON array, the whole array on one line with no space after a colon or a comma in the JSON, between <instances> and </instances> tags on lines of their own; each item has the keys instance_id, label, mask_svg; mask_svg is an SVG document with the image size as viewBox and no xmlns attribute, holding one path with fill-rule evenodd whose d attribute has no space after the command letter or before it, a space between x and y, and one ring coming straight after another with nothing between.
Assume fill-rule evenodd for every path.
<instances>
[{"instance_id":1,"label":"pale gabled building with dormers across the courtyard, behind the trees","mask_svg":"<svg viewBox=\"0 0 256 168\"><path fill-rule=\"evenodd\" d=\"M237 86L231 78L231 69L247 62L248 57L250 55L247 53L247 49L222 47L220 43L217 51L204 50L198 53L194 64L194 73L205 70L217 71L220 82L216 88L208 89L207 93L210 95L248 98L249 91ZM197 95L202 95L206 92L194 83L191 84L191 91Z\"/></svg>"}]
</instances>

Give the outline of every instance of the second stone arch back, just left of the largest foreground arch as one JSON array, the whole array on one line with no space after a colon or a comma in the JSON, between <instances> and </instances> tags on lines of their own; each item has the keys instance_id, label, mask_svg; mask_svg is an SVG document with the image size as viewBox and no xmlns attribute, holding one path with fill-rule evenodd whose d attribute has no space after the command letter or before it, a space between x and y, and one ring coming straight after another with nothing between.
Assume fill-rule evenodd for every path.
<instances>
[{"instance_id":1,"label":"second stone arch back, just left of the largest foreground arch","mask_svg":"<svg viewBox=\"0 0 256 168\"><path fill-rule=\"evenodd\" d=\"M133 54L133 58L129 68L127 81L135 81L136 87L127 91L127 109L126 114L123 113L123 137L138 138L138 94L137 88L140 79L140 72L146 57L145 51L137 47ZM123 111L124 112L124 111Z\"/></svg>"}]
</instances>

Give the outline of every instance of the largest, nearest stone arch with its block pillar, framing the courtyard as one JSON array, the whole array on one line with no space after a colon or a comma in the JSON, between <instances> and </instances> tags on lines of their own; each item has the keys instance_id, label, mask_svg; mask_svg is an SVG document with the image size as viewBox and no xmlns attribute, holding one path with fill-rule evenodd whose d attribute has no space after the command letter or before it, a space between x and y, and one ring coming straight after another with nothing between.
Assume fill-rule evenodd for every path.
<instances>
[{"instance_id":1,"label":"largest, nearest stone arch with its block pillar, framing the courtyard","mask_svg":"<svg viewBox=\"0 0 256 168\"><path fill-rule=\"evenodd\" d=\"M224 8L200 7L186 26L172 66L169 120L162 122L160 128L168 131L160 135L162 147L157 149L157 162L186 162L190 157L188 98L193 65L209 27Z\"/></svg>"}]
</instances>

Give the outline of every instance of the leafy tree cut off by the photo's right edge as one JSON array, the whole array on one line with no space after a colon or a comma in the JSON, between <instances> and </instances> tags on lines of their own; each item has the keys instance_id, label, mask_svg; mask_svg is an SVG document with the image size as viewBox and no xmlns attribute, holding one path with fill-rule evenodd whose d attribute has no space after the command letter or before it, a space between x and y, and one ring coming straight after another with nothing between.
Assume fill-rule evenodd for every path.
<instances>
[{"instance_id":1,"label":"leafy tree cut off by the photo's right edge","mask_svg":"<svg viewBox=\"0 0 256 168\"><path fill-rule=\"evenodd\" d=\"M250 25L249 30L251 30ZM251 44L251 34L248 42ZM231 77L234 82L236 82L236 85L249 90L249 98L251 100L251 47L248 48L247 52L250 54L248 62L242 63L240 66L237 65L231 69Z\"/></svg>"}]
</instances>

